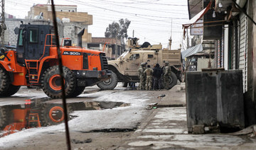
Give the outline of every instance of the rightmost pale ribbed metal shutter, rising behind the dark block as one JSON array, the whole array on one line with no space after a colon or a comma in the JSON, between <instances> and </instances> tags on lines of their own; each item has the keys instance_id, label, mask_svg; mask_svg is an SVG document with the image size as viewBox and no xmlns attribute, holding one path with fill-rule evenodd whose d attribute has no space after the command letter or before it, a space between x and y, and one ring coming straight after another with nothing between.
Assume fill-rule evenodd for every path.
<instances>
[{"instance_id":1,"label":"rightmost pale ribbed metal shutter, rising behind the dark block","mask_svg":"<svg viewBox=\"0 0 256 150\"><path fill-rule=\"evenodd\" d=\"M243 90L247 91L247 17L240 14L240 45L238 53L238 69L242 70Z\"/></svg>"}]
</instances>

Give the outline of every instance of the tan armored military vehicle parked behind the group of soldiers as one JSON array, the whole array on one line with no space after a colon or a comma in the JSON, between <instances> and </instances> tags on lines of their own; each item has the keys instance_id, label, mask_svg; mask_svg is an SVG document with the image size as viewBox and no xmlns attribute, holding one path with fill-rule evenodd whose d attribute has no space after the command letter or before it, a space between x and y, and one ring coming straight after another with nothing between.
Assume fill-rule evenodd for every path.
<instances>
[{"instance_id":1,"label":"tan armored military vehicle parked behind the group of soldiers","mask_svg":"<svg viewBox=\"0 0 256 150\"><path fill-rule=\"evenodd\" d=\"M138 45L138 38L127 40L126 51L116 60L108 61L108 69L112 71L110 79L97 83L102 90L112 90L117 82L123 82L127 86L129 82L139 82L138 69L142 62L146 62L153 68L154 64L164 67L164 62L171 66L169 88L176 85L177 79L181 81L181 50L162 49L162 45L150 45L144 42Z\"/></svg>"}]
</instances>

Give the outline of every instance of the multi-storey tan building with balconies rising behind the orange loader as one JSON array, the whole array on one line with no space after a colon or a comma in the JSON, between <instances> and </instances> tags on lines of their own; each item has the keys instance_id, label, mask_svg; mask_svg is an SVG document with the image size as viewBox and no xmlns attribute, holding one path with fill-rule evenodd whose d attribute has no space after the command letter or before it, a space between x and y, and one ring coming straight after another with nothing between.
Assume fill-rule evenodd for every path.
<instances>
[{"instance_id":1,"label":"multi-storey tan building with balconies rising behind the orange loader","mask_svg":"<svg viewBox=\"0 0 256 150\"><path fill-rule=\"evenodd\" d=\"M88 33L88 25L92 25L92 15L85 12L78 12L75 5L55 5L57 18L63 22L64 37L70 37L77 44L78 33L82 28L85 28L85 33L82 35L82 44L87 47L87 43L92 41L92 34ZM33 19L43 16L46 21L52 21L51 6L47 4L36 4L28 11L26 18Z\"/></svg>"}]
</instances>

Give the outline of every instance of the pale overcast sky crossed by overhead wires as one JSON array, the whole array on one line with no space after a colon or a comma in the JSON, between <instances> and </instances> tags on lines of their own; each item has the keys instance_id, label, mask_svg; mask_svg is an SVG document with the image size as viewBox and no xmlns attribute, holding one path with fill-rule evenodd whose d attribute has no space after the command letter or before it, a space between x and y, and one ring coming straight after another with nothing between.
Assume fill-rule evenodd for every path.
<instances>
[{"instance_id":1,"label":"pale overcast sky crossed by overhead wires","mask_svg":"<svg viewBox=\"0 0 256 150\"><path fill-rule=\"evenodd\" d=\"M33 4L47 4L48 0L5 0L5 11L16 18L25 18ZM150 42L167 47L172 35L172 49L182 42L182 23L188 21L187 0L55 0L55 4L77 5L78 11L92 15L89 25L92 37L105 37L107 26L120 18L131 21L129 37L139 37L139 43ZM171 34L172 26L172 34ZM186 42L183 41L186 46Z\"/></svg>"}]
</instances>

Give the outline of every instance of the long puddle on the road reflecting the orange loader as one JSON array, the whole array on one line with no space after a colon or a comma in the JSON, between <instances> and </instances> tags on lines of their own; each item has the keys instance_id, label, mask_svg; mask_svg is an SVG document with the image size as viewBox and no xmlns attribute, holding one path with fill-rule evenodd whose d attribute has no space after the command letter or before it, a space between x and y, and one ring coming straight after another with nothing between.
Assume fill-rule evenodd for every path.
<instances>
[{"instance_id":1,"label":"long puddle on the road reflecting the orange loader","mask_svg":"<svg viewBox=\"0 0 256 150\"><path fill-rule=\"evenodd\" d=\"M0 106L0 137L33 127L58 125L64 121L63 105L48 103L50 98L26 100L22 105ZM122 102L75 102L68 103L68 113L75 110L103 110L129 106ZM69 120L71 117L68 115Z\"/></svg>"}]
</instances>

